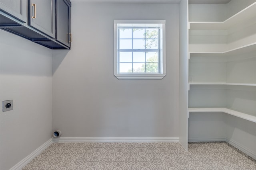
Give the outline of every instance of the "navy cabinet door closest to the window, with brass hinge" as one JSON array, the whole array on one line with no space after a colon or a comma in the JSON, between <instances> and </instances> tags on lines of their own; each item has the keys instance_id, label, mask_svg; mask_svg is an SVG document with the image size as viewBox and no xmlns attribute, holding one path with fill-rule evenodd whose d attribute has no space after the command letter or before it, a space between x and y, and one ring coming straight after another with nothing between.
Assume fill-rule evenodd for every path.
<instances>
[{"instance_id":1,"label":"navy cabinet door closest to the window, with brass hinge","mask_svg":"<svg viewBox=\"0 0 256 170\"><path fill-rule=\"evenodd\" d=\"M56 0L56 40L68 47L71 46L70 6L69 0Z\"/></svg>"}]
</instances>

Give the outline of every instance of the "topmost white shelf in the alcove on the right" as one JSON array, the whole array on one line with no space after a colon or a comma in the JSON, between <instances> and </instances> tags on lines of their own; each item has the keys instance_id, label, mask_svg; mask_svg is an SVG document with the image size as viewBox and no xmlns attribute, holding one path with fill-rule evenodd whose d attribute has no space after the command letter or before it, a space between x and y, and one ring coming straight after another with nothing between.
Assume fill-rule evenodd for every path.
<instances>
[{"instance_id":1,"label":"topmost white shelf in the alcove on the right","mask_svg":"<svg viewBox=\"0 0 256 170\"><path fill-rule=\"evenodd\" d=\"M241 23L245 18L256 16L256 2L244 8L234 16L221 22L189 22L190 30L226 30L237 23Z\"/></svg>"}]
</instances>

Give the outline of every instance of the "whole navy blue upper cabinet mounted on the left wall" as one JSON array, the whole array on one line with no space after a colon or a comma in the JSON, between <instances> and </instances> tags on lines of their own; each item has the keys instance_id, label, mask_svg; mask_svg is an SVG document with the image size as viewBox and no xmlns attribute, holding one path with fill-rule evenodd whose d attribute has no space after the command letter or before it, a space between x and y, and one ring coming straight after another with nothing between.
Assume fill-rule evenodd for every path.
<instances>
[{"instance_id":1,"label":"whole navy blue upper cabinet mounted on the left wall","mask_svg":"<svg viewBox=\"0 0 256 170\"><path fill-rule=\"evenodd\" d=\"M0 29L50 49L70 49L70 0L0 0Z\"/></svg>"}]
</instances>

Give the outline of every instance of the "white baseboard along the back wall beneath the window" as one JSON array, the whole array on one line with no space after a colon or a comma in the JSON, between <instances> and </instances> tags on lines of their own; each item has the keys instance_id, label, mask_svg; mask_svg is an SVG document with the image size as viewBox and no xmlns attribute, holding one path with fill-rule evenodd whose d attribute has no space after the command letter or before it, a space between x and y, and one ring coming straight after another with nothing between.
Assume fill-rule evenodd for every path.
<instances>
[{"instance_id":1,"label":"white baseboard along the back wall beneath the window","mask_svg":"<svg viewBox=\"0 0 256 170\"><path fill-rule=\"evenodd\" d=\"M179 137L60 137L53 142L179 142Z\"/></svg>"}]
</instances>

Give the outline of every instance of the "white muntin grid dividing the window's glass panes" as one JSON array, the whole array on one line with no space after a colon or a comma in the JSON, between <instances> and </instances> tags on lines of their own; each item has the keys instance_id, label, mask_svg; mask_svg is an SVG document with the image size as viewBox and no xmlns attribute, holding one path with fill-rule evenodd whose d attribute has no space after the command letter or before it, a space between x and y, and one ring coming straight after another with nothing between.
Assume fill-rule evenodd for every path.
<instances>
[{"instance_id":1,"label":"white muntin grid dividing the window's glass panes","mask_svg":"<svg viewBox=\"0 0 256 170\"><path fill-rule=\"evenodd\" d=\"M158 29L158 38L146 38L146 29L152 29L152 28L156 28ZM120 29L132 29L132 38L120 38ZM144 29L144 47L145 49L133 49L133 39L142 39L142 38L133 38L133 29ZM160 27L118 27L118 73L127 73L127 72L120 72L120 63L132 63L132 72L131 73L135 73L135 74L138 74L138 73L143 73L143 74L159 74L160 73ZM132 40L132 49L120 49L120 39L131 39ZM147 39L156 39L158 41L158 49L146 49L146 40ZM133 52L145 52L144 53L144 59L145 59L145 62L134 62L133 61ZM157 62L147 62L146 61L146 53L147 52L157 52L157 58L158 58L158 61ZM132 62L120 62L120 52L132 52ZM133 63L144 63L145 64L145 70L144 72L133 72ZM157 72L146 72L146 63L158 63L158 70Z\"/></svg>"}]
</instances>

